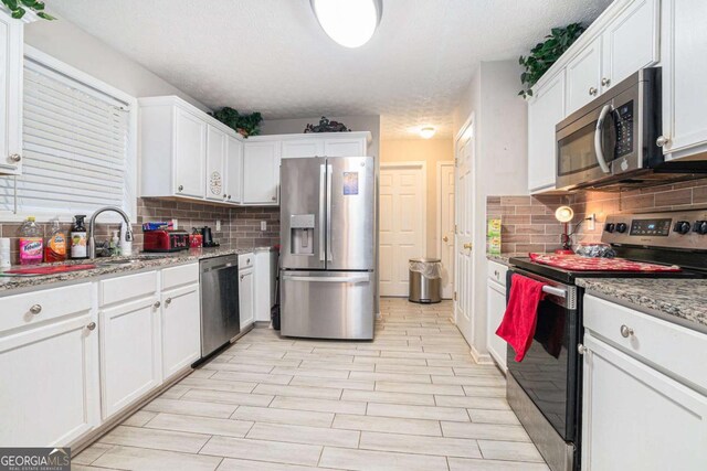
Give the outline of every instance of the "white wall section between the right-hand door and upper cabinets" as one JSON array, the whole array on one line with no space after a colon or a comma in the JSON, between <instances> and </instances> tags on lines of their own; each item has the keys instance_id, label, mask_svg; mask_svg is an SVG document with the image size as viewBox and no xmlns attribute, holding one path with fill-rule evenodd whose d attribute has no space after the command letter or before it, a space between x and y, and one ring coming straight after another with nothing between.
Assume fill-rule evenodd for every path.
<instances>
[{"instance_id":1,"label":"white wall section between the right-hand door and upper cabinets","mask_svg":"<svg viewBox=\"0 0 707 471\"><path fill-rule=\"evenodd\" d=\"M474 170L474 256L471 323L460 330L479 357L486 347L486 196L527 194L527 105L518 96L517 61L483 62L454 111L461 130L473 113L476 129Z\"/></svg>"}]
</instances>

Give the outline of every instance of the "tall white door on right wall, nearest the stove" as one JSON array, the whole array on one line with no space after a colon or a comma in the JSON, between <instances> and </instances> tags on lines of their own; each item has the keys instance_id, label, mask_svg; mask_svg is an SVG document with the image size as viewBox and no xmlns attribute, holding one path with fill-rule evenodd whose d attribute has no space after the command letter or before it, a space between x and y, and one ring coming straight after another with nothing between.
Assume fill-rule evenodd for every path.
<instances>
[{"instance_id":1,"label":"tall white door on right wall, nearest the stove","mask_svg":"<svg viewBox=\"0 0 707 471\"><path fill-rule=\"evenodd\" d=\"M454 320L463 332L471 332L473 263L472 242L474 239L474 127L473 122L456 141L456 234Z\"/></svg>"}]
</instances>

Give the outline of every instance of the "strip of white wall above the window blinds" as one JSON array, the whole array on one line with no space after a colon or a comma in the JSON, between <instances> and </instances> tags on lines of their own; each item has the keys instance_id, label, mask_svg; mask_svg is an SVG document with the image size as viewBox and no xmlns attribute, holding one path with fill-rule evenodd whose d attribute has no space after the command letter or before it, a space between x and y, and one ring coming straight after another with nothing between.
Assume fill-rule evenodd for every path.
<instances>
[{"instance_id":1,"label":"strip of white wall above the window blinds","mask_svg":"<svg viewBox=\"0 0 707 471\"><path fill-rule=\"evenodd\" d=\"M73 23L36 21L24 28L24 42L134 97L177 95L198 108L210 109Z\"/></svg>"}]
</instances>

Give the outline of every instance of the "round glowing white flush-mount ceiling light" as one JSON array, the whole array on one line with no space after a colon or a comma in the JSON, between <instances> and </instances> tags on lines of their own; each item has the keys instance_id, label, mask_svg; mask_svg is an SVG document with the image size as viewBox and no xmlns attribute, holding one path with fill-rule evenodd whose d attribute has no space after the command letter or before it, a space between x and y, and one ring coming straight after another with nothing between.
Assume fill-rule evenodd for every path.
<instances>
[{"instance_id":1,"label":"round glowing white flush-mount ceiling light","mask_svg":"<svg viewBox=\"0 0 707 471\"><path fill-rule=\"evenodd\" d=\"M371 39L382 14L381 0L310 0L317 21L329 38L345 47Z\"/></svg>"}]
</instances>

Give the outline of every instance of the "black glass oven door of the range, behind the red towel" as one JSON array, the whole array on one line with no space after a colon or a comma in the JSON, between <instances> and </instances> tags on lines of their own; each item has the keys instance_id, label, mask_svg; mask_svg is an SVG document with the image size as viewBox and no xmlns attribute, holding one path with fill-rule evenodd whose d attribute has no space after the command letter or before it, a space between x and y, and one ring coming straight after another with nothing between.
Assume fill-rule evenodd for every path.
<instances>
[{"instance_id":1,"label":"black glass oven door of the range, behind the red towel","mask_svg":"<svg viewBox=\"0 0 707 471\"><path fill-rule=\"evenodd\" d=\"M508 345L508 372L564 441L576 442L581 407L577 346L582 334L578 288L515 268L508 270L508 293L513 274L542 281L550 292L540 301L532 344L523 362L516 362Z\"/></svg>"}]
</instances>

